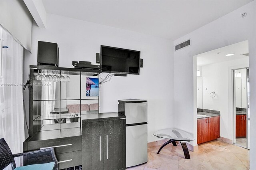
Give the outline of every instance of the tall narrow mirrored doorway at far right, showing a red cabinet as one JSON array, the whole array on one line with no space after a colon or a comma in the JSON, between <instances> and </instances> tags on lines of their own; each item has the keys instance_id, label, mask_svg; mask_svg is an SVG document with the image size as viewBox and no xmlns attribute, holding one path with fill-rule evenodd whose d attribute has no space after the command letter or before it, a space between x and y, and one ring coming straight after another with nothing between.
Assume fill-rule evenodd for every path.
<instances>
[{"instance_id":1,"label":"tall narrow mirrored doorway at far right, showing a red cabinet","mask_svg":"<svg viewBox=\"0 0 256 170\"><path fill-rule=\"evenodd\" d=\"M234 144L250 149L250 78L249 68L233 70Z\"/></svg>"}]
</instances>

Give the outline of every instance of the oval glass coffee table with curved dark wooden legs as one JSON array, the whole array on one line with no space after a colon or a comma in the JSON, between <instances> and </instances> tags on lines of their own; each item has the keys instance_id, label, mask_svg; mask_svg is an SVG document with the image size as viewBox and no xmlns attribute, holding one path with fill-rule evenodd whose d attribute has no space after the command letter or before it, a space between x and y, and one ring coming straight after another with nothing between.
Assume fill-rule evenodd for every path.
<instances>
[{"instance_id":1,"label":"oval glass coffee table with curved dark wooden legs","mask_svg":"<svg viewBox=\"0 0 256 170\"><path fill-rule=\"evenodd\" d=\"M166 128L154 132L153 135L158 138L170 139L159 148L157 154L159 154L162 148L164 148L164 146L168 145L169 143L172 143L173 146L177 146L176 141L180 141L185 159L190 159L188 147L186 145L186 141L194 140L194 137L190 133L176 128Z\"/></svg>"}]
</instances>

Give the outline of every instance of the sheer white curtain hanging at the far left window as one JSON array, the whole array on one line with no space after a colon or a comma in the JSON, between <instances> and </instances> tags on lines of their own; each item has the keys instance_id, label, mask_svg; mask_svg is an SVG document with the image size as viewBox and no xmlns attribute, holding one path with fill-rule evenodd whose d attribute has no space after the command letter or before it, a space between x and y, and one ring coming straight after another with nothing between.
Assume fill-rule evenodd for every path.
<instances>
[{"instance_id":1,"label":"sheer white curtain hanging at the far left window","mask_svg":"<svg viewBox=\"0 0 256 170\"><path fill-rule=\"evenodd\" d=\"M22 97L23 48L12 36L2 30L1 49L0 138L6 140L12 153L15 154L23 151L25 138ZM22 158L15 159L15 162L17 166L23 164Z\"/></svg>"}]
</instances>

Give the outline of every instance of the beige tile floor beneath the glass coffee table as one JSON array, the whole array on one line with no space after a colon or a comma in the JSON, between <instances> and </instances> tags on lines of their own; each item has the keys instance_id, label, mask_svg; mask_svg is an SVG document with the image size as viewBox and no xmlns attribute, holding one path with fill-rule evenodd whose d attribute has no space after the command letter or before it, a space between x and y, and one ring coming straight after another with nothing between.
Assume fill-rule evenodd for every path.
<instances>
[{"instance_id":1,"label":"beige tile floor beneath the glass coffee table","mask_svg":"<svg viewBox=\"0 0 256 170\"><path fill-rule=\"evenodd\" d=\"M199 145L185 159L181 146L168 144L159 154L160 146L148 148L148 162L127 170L248 170L249 150L214 140Z\"/></svg>"}]
</instances>

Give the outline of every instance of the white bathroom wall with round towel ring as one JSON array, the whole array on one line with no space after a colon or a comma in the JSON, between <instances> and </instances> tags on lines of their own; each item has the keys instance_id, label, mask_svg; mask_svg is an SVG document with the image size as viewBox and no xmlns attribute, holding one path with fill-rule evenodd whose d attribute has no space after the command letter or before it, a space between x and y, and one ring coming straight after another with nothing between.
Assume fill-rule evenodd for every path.
<instances>
[{"instance_id":1,"label":"white bathroom wall with round towel ring","mask_svg":"<svg viewBox=\"0 0 256 170\"><path fill-rule=\"evenodd\" d=\"M242 65L242 66L241 66ZM202 66L203 77L203 109L220 111L220 136L233 140L234 128L232 127L232 113L229 113L229 84L232 77L229 77L232 69L249 67L249 59L235 59L210 65ZM232 69L231 69L232 68ZM241 81L240 81L241 86ZM210 93L215 91L215 97L210 97ZM240 88L240 106L241 106L241 88ZM233 113L234 114L234 113Z\"/></svg>"}]
</instances>

